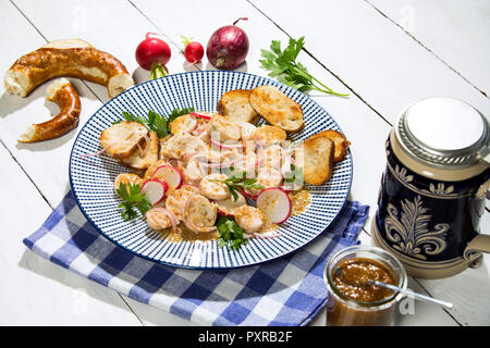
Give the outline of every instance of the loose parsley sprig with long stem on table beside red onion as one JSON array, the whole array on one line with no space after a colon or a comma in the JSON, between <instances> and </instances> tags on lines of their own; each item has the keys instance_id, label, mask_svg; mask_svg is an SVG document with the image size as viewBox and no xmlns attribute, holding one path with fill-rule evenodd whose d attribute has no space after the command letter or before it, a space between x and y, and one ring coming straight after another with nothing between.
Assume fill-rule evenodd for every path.
<instances>
[{"instance_id":1,"label":"loose parsley sprig with long stem on table beside red onion","mask_svg":"<svg viewBox=\"0 0 490 348\"><path fill-rule=\"evenodd\" d=\"M315 89L340 97L348 96L333 91L309 74L305 65L296 62L296 58L304 45L304 36L297 40L291 38L287 47L282 51L281 42L272 40L270 51L261 50L265 59L260 60L260 63L264 69L270 72L269 76L277 77L280 83L296 88L299 91Z\"/></svg>"}]
</instances>

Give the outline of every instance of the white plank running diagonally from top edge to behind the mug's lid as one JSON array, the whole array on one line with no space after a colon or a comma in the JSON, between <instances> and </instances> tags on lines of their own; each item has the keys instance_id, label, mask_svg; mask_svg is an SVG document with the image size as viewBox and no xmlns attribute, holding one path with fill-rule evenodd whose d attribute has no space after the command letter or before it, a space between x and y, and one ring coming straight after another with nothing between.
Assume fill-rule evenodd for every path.
<instances>
[{"instance_id":1,"label":"white plank running diagonally from top edge to behind the mug's lid","mask_svg":"<svg viewBox=\"0 0 490 348\"><path fill-rule=\"evenodd\" d=\"M485 114L490 100L362 0L316 0L291 21L297 3L250 3L260 8L391 122L407 104L426 97L463 99Z\"/></svg>"}]
</instances>

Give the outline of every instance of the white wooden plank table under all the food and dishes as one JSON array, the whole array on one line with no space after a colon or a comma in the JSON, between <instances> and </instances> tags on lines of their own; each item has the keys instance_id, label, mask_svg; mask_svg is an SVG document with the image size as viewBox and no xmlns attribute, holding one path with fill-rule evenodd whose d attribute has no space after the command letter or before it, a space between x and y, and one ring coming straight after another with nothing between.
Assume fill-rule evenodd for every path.
<instances>
[{"instance_id":1,"label":"white wooden plank table under all the food and dishes","mask_svg":"<svg viewBox=\"0 0 490 348\"><path fill-rule=\"evenodd\" d=\"M385 158L383 144L399 112L428 96L453 96L490 115L490 2L487 0L0 0L0 71L47 41L78 37L119 58L136 83L149 79L134 51L147 32L167 36L170 73L212 70L206 58L184 63L180 35L207 44L211 33L238 17L250 40L238 71L266 75L260 49L272 39L306 37L302 61L309 72L348 99L310 96L330 112L352 141L351 199L371 206L360 240L369 244ZM2 73L2 74L3 74ZM20 145L27 125L48 120L46 84L28 98L0 86L0 324L193 325L87 281L25 248L34 232L70 189L68 161L81 126L108 101L105 87L71 79L81 95L81 125L47 142ZM483 227L490 228L489 215ZM483 229L485 231L485 229ZM490 325L490 259L439 281L411 279L409 287L454 302L443 310L417 302L396 325ZM311 322L324 325L324 311Z\"/></svg>"}]
</instances>

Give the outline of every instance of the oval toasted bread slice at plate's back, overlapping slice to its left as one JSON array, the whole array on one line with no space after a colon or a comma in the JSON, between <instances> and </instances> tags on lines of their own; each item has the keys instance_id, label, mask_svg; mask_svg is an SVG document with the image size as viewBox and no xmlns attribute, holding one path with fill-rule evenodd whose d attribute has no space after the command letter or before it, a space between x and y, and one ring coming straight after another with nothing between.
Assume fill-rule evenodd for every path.
<instances>
[{"instance_id":1,"label":"oval toasted bread slice at plate's back, overlapping slice to its left","mask_svg":"<svg viewBox=\"0 0 490 348\"><path fill-rule=\"evenodd\" d=\"M254 88L248 101L267 122L287 133L297 133L305 126L302 107L273 86Z\"/></svg>"}]
</instances>

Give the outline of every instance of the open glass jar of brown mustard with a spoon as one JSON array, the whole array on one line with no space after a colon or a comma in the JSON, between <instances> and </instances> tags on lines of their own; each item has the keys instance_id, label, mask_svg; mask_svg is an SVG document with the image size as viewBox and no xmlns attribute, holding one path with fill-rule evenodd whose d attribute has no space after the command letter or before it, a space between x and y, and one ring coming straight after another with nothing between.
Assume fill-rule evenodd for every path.
<instances>
[{"instance_id":1,"label":"open glass jar of brown mustard with a spoon","mask_svg":"<svg viewBox=\"0 0 490 348\"><path fill-rule=\"evenodd\" d=\"M390 325L403 295L366 282L379 281L403 289L407 286L400 261L371 246L352 246L332 256L323 278L329 290L329 326Z\"/></svg>"}]
</instances>

